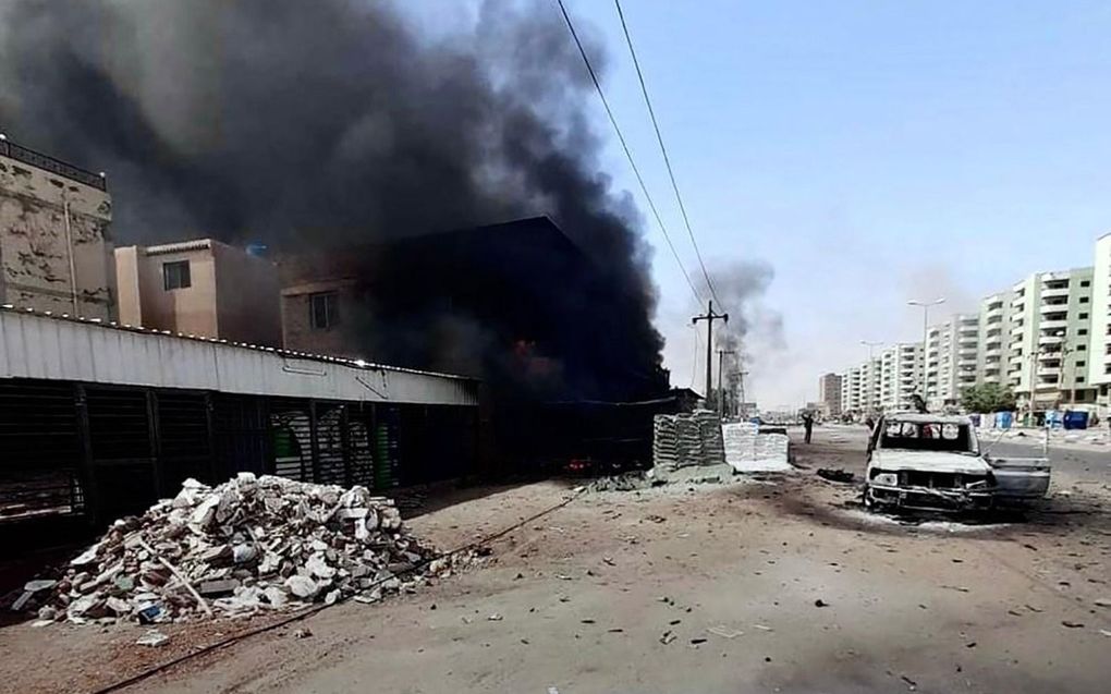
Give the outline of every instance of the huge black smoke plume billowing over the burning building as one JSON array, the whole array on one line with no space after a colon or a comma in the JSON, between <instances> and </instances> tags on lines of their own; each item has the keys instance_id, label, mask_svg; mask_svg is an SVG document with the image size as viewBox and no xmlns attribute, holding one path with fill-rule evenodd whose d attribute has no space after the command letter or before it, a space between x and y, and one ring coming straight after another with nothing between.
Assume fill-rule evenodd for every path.
<instances>
[{"instance_id":1,"label":"huge black smoke plume billowing over the burning building","mask_svg":"<svg viewBox=\"0 0 1111 694\"><path fill-rule=\"evenodd\" d=\"M577 382L658 372L649 249L599 171L591 84L560 17L546 2L444 8L472 21L427 31L408 4L373 0L8 0L0 130L106 171L122 242L211 235L296 253L548 214L598 275L592 301L546 313L556 332L604 342ZM552 295L564 284L547 281ZM497 352L483 364L521 349L481 313L454 331L426 321L423 339Z\"/></svg>"}]
</instances>

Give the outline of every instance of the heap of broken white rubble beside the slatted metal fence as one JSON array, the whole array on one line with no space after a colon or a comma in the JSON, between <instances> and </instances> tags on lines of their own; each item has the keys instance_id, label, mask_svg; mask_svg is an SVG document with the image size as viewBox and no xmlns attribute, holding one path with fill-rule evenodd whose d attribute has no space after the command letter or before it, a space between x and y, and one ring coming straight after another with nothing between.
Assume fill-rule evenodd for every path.
<instances>
[{"instance_id":1,"label":"heap of broken white rubble beside the slatted metal fence","mask_svg":"<svg viewBox=\"0 0 1111 694\"><path fill-rule=\"evenodd\" d=\"M60 580L28 583L12 606L76 623L249 616L374 602L463 561L438 557L366 487L240 473L216 487L187 480L174 499L113 523Z\"/></svg>"}]
</instances>

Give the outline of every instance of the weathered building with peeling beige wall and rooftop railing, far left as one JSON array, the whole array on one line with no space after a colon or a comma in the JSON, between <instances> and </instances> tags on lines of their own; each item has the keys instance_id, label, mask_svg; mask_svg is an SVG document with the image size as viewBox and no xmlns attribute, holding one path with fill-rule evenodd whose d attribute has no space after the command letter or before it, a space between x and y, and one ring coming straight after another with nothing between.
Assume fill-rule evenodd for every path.
<instances>
[{"instance_id":1,"label":"weathered building with peeling beige wall and rooftop railing, far left","mask_svg":"<svg viewBox=\"0 0 1111 694\"><path fill-rule=\"evenodd\" d=\"M0 303L116 318L104 177L0 135Z\"/></svg>"}]
</instances>

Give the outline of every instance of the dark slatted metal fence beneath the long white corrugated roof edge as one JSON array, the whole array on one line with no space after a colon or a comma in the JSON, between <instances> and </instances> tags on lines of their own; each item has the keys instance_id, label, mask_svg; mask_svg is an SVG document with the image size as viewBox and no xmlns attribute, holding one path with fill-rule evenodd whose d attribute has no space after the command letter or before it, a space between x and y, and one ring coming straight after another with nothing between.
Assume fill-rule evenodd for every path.
<instances>
[{"instance_id":1,"label":"dark slatted metal fence beneath the long white corrugated roof edge","mask_svg":"<svg viewBox=\"0 0 1111 694\"><path fill-rule=\"evenodd\" d=\"M0 526L100 526L238 472L376 490L463 476L474 406L0 380Z\"/></svg>"}]
</instances>

